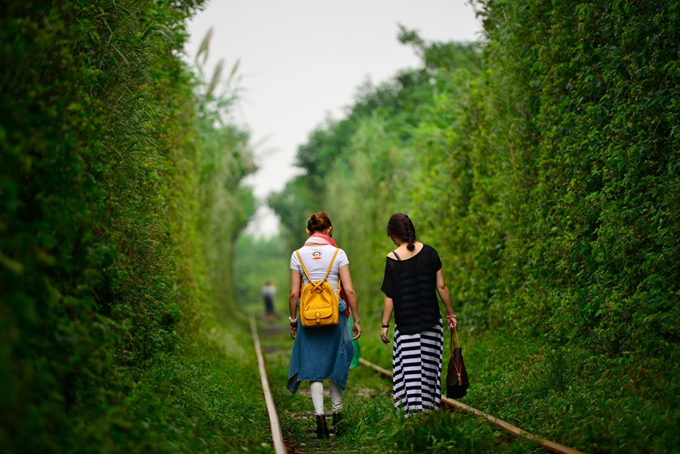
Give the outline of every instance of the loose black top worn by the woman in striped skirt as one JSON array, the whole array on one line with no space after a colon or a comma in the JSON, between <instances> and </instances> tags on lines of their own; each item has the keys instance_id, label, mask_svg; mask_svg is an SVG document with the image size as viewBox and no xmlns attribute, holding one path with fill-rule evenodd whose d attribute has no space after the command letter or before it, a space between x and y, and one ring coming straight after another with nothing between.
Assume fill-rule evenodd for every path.
<instances>
[{"instance_id":1,"label":"loose black top worn by the woman in striped skirt","mask_svg":"<svg viewBox=\"0 0 680 454\"><path fill-rule=\"evenodd\" d=\"M395 253L396 255L396 253ZM394 301L394 320L403 334L420 333L441 323L437 299L437 251L427 244L405 260L386 258L382 292Z\"/></svg>"}]
</instances>

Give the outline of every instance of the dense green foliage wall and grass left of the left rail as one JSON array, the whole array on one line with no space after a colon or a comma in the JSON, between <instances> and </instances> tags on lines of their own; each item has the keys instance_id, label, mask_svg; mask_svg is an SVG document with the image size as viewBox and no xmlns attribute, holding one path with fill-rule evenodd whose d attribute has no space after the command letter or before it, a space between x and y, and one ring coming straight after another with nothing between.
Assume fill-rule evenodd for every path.
<instances>
[{"instance_id":1,"label":"dense green foliage wall and grass left of the left rail","mask_svg":"<svg viewBox=\"0 0 680 454\"><path fill-rule=\"evenodd\" d=\"M3 3L3 452L266 439L249 355L213 315L253 169L230 97L179 58L200 3Z\"/></svg>"}]
</instances>

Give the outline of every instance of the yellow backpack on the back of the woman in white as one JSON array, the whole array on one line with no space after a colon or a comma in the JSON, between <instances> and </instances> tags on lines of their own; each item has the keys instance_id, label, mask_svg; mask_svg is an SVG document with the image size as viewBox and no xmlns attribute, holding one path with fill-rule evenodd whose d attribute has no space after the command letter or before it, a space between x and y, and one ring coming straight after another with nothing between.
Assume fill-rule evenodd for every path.
<instances>
[{"instance_id":1,"label":"yellow backpack on the back of the woman in white","mask_svg":"<svg viewBox=\"0 0 680 454\"><path fill-rule=\"evenodd\" d=\"M300 295L300 322L305 328L318 328L322 326L332 326L337 325L340 321L339 318L339 295L340 295L340 277L338 276L338 293L333 292L333 286L326 280L328 279L328 274L333 268L333 263L335 262L335 257L338 255L338 251L335 250L333 254L333 259L331 264L328 266L326 271L326 276L324 276L323 281L312 282L309 277L307 268L300 257L300 251L295 251L302 265L302 270L307 276L307 284L302 287L302 294Z\"/></svg>"}]
</instances>

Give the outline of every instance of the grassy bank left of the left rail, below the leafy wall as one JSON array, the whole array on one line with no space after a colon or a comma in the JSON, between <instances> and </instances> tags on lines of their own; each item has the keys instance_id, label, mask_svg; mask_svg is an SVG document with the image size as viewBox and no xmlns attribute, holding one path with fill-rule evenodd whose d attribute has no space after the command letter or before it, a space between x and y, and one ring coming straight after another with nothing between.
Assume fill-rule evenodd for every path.
<instances>
[{"instance_id":1,"label":"grassy bank left of the left rail, below the leafy wall","mask_svg":"<svg viewBox=\"0 0 680 454\"><path fill-rule=\"evenodd\" d=\"M78 418L68 452L272 452L250 331L215 325L157 357L102 418ZM247 437L243 434L247 433Z\"/></svg>"}]
</instances>

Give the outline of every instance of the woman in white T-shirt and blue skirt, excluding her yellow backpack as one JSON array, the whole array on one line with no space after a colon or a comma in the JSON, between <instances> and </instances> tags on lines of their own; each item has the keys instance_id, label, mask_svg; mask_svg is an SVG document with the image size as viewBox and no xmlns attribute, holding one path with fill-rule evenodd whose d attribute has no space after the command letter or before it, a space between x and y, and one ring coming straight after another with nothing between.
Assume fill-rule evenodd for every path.
<instances>
[{"instance_id":1,"label":"woman in white T-shirt and blue skirt, excluding her yellow backpack","mask_svg":"<svg viewBox=\"0 0 680 454\"><path fill-rule=\"evenodd\" d=\"M352 361L352 340L361 335L359 308L349 272L349 260L345 251L336 248L331 239L333 226L324 212L312 214L307 221L309 238L305 245L293 252L290 259L290 334L295 339L290 357L288 389L295 393L302 380L310 382L309 389L316 413L316 433L319 438L328 437L323 405L323 381L328 379L333 410L333 426L336 435L342 433L342 393L347 384ZM302 263L301 263L301 261ZM337 325L305 328L298 316L300 287L324 280L338 294L342 283L347 300L340 297ZM309 276L309 279L308 277ZM352 333L347 320L347 304L354 316Z\"/></svg>"}]
</instances>

